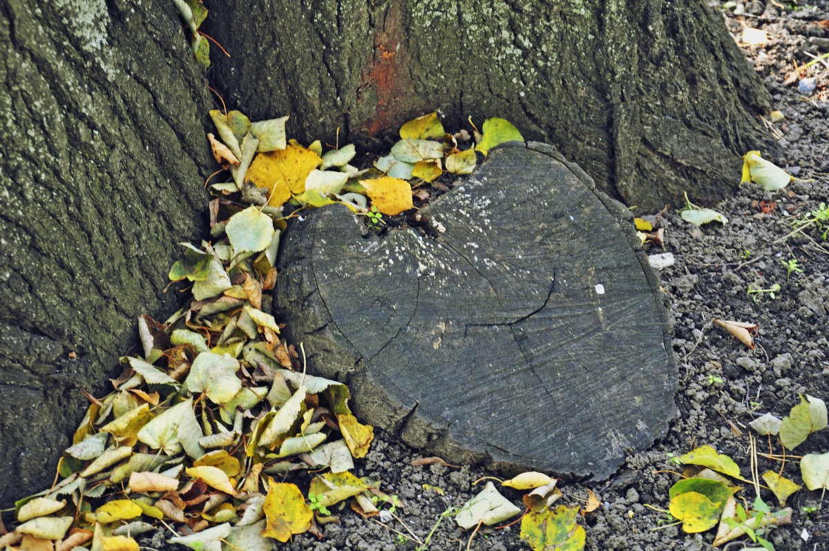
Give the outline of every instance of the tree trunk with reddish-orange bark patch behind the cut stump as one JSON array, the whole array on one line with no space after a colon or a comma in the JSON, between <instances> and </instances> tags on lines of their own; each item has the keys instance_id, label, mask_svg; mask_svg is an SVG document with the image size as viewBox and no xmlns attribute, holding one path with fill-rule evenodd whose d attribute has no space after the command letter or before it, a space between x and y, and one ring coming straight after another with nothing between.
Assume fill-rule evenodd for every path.
<instances>
[{"instance_id":1,"label":"tree trunk with reddish-orange bark patch behind the cut stump","mask_svg":"<svg viewBox=\"0 0 829 551\"><path fill-rule=\"evenodd\" d=\"M211 78L297 138L371 142L443 109L505 117L555 144L599 189L662 208L722 198L758 145L768 92L699 0L216 2L230 50Z\"/></svg>"}]
</instances>

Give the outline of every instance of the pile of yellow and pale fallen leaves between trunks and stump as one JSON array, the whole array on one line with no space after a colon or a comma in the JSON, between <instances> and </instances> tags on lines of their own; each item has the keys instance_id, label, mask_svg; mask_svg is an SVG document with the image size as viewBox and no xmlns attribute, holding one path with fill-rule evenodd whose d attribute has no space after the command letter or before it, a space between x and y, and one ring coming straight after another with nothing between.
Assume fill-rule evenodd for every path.
<instances>
[{"instance_id":1,"label":"pile of yellow and pale fallen leaves between trunks and stump","mask_svg":"<svg viewBox=\"0 0 829 551\"><path fill-rule=\"evenodd\" d=\"M192 549L264 550L269 538L318 534L314 510L353 498L352 509L376 515L378 498L388 500L350 472L373 429L351 414L346 385L306 374L302 344L279 338L269 291L283 210L342 203L372 220L395 215L412 208L409 180L470 173L476 150L521 134L488 119L462 151L431 113L406 123L374 168L358 170L348 164L353 145L322 154L319 142L287 141L288 117L211 118L221 140L208 139L232 181L211 186L211 241L182 244L170 270L173 282L192 283L191 298L164 322L138 318L143 353L121 359L111 394L88 396L55 484L17 501L19 524L0 535L0 549L137 551L134 537L163 524L170 542ZM274 481L297 469L318 471L309 500Z\"/></svg>"}]
</instances>

